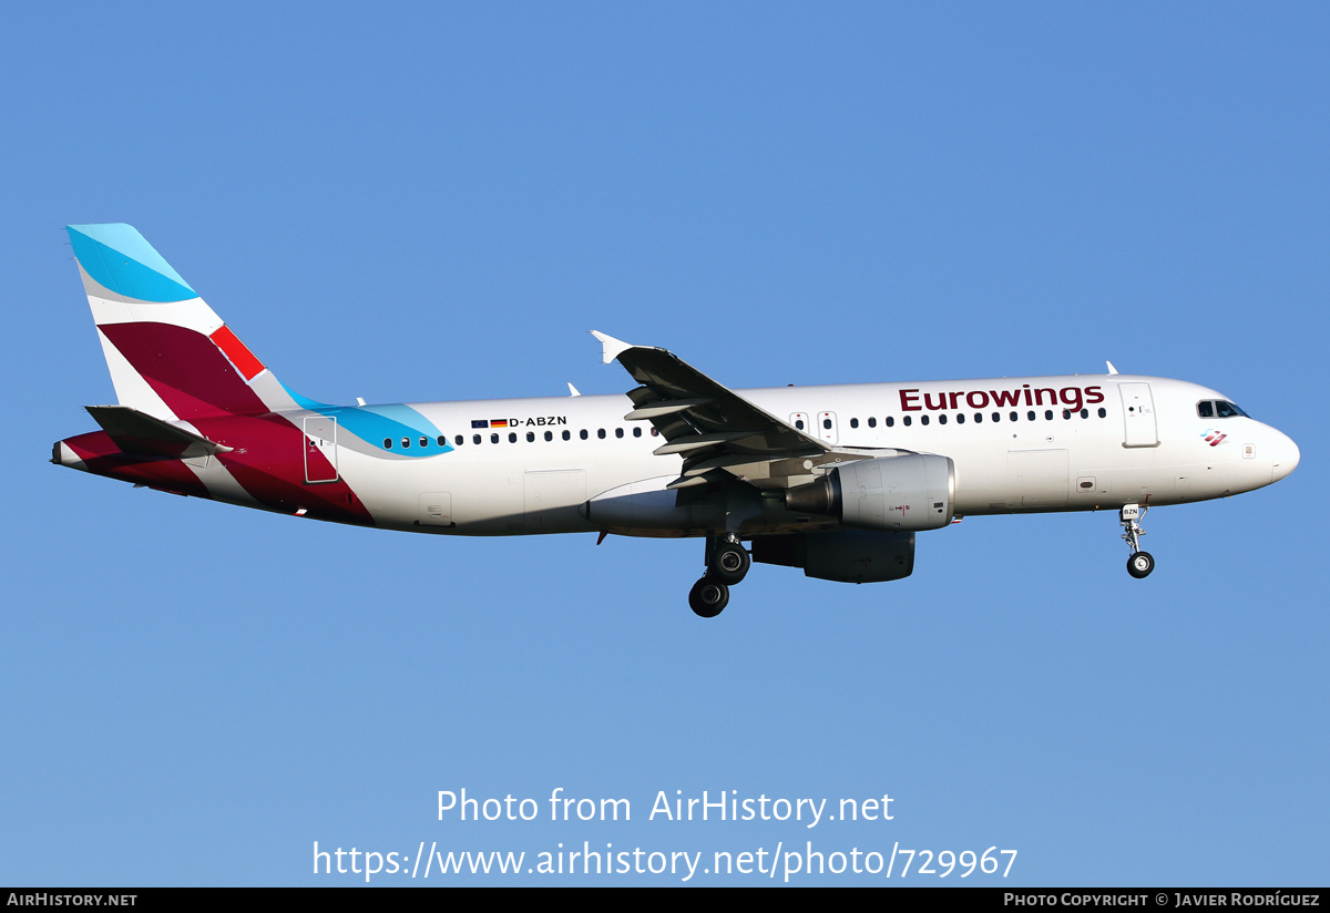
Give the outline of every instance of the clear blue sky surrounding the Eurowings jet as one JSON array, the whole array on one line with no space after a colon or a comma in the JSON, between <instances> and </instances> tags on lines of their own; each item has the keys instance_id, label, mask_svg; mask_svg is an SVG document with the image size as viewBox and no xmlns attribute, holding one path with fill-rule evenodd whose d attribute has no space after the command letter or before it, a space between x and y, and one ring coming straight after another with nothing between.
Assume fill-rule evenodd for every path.
<instances>
[{"instance_id":1,"label":"clear blue sky surrounding the Eurowings jet","mask_svg":"<svg viewBox=\"0 0 1330 913\"><path fill-rule=\"evenodd\" d=\"M0 882L356 882L315 840L1330 881L1325 4L16 4L5 32ZM706 623L698 542L410 537L49 465L114 397L70 222L137 226L326 401L626 389L589 328L734 387L1112 359L1302 465L1153 512L1144 582L1113 514L971 518L910 579L758 566ZM633 820L551 823L556 787ZM545 815L436 820L462 788ZM676 789L894 820L648 821Z\"/></svg>"}]
</instances>

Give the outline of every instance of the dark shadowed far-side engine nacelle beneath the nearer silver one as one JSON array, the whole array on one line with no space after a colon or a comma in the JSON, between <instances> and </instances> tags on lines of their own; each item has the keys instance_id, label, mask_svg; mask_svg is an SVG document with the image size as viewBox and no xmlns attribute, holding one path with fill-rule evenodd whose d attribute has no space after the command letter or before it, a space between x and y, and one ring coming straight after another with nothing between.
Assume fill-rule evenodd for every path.
<instances>
[{"instance_id":1,"label":"dark shadowed far-side engine nacelle beneath the nearer silver one","mask_svg":"<svg viewBox=\"0 0 1330 913\"><path fill-rule=\"evenodd\" d=\"M914 571L914 533L831 529L821 533L761 536L753 561L802 567L805 577L842 583L880 583Z\"/></svg>"}]
</instances>

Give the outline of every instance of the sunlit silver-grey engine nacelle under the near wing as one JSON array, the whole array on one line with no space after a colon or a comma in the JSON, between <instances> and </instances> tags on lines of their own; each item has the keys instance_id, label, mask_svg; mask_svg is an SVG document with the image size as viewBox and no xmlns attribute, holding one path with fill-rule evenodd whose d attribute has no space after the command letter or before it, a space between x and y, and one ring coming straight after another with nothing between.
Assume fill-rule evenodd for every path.
<instances>
[{"instance_id":1,"label":"sunlit silver-grey engine nacelle under the near wing","mask_svg":"<svg viewBox=\"0 0 1330 913\"><path fill-rule=\"evenodd\" d=\"M955 494L950 457L911 453L842 464L815 482L791 488L785 506L830 514L846 526L903 533L950 524Z\"/></svg>"}]
</instances>

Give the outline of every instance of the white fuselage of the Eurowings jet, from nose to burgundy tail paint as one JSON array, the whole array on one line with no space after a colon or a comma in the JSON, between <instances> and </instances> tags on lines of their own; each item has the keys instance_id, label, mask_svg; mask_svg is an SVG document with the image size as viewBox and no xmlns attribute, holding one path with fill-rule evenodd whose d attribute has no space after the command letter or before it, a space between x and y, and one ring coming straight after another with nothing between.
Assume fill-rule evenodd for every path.
<instances>
[{"instance_id":1,"label":"white fuselage of the Eurowings jet, from nose to burgundy tail paint","mask_svg":"<svg viewBox=\"0 0 1330 913\"><path fill-rule=\"evenodd\" d=\"M954 510L995 514L1117 509L1202 501L1269 485L1297 447L1245 416L1201 417L1225 397L1178 380L1129 375L1004 377L735 391L838 448L895 448L951 457ZM1000 404L998 404L1000 403ZM681 457L625 421L626 396L408 404L446 429L450 452L370 453L338 447L338 470L376 525L467 536L595 532L579 508L625 485L662 489ZM507 427L472 428L503 420ZM548 440L547 440L548 437ZM415 441L407 441L415 444ZM384 458L395 457L395 458ZM743 534L826 518L769 510ZM705 530L610 529L645 536Z\"/></svg>"}]
</instances>

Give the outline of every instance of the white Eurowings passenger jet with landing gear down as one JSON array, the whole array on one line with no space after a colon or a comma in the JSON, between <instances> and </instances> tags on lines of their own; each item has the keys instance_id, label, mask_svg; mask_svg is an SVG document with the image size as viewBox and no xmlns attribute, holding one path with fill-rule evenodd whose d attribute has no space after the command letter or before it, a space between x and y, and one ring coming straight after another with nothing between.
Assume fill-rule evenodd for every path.
<instances>
[{"instance_id":1,"label":"white Eurowings passenger jet with landing gear down","mask_svg":"<svg viewBox=\"0 0 1330 913\"><path fill-rule=\"evenodd\" d=\"M867 583L966 516L1116 510L1270 485L1297 445L1228 396L1119 373L730 389L592 331L626 395L331 405L282 384L128 225L69 241L118 403L52 462L157 490L440 536L697 537L713 618L753 562Z\"/></svg>"}]
</instances>

